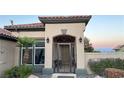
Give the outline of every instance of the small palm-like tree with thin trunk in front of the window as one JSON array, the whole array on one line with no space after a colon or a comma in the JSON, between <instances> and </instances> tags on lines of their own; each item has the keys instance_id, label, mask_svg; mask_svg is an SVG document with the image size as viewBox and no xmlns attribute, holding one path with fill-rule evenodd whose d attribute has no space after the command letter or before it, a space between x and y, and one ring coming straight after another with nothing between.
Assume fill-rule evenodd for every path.
<instances>
[{"instance_id":1,"label":"small palm-like tree with thin trunk in front of the window","mask_svg":"<svg viewBox=\"0 0 124 93\"><path fill-rule=\"evenodd\" d=\"M29 37L19 37L17 44L20 47L25 47L24 51L24 64L28 63L29 61L29 46L32 46L35 43L35 40L33 38Z\"/></svg>"}]
</instances>

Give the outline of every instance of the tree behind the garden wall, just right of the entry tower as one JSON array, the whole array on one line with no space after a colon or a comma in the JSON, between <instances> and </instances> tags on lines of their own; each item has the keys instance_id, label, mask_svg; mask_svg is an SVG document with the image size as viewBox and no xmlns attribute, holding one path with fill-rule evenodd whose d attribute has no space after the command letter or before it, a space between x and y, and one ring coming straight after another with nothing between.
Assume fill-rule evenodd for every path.
<instances>
[{"instance_id":1,"label":"tree behind the garden wall, just right of the entry tower","mask_svg":"<svg viewBox=\"0 0 124 93\"><path fill-rule=\"evenodd\" d=\"M84 51L85 52L94 51L94 48L92 47L92 43L90 43L90 40L87 37L84 38Z\"/></svg>"}]
</instances>

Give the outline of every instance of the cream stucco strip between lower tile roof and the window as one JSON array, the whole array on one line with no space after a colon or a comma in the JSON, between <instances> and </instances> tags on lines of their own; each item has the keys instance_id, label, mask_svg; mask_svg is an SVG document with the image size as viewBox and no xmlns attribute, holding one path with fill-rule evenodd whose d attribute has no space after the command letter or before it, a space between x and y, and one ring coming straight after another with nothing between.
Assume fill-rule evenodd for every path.
<instances>
[{"instance_id":1,"label":"cream stucco strip between lower tile roof and the window","mask_svg":"<svg viewBox=\"0 0 124 93\"><path fill-rule=\"evenodd\" d=\"M20 32L12 32L13 35L17 37L32 37L32 38L44 38L45 31L20 31Z\"/></svg>"}]
</instances>

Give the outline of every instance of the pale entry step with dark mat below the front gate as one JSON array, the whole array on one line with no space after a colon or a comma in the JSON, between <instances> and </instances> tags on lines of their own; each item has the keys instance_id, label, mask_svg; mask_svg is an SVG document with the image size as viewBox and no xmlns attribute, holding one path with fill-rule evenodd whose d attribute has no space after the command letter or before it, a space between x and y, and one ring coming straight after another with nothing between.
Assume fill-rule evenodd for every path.
<instances>
[{"instance_id":1,"label":"pale entry step with dark mat below the front gate","mask_svg":"<svg viewBox=\"0 0 124 93\"><path fill-rule=\"evenodd\" d=\"M52 78L76 78L76 74L72 73L54 73Z\"/></svg>"}]
</instances>

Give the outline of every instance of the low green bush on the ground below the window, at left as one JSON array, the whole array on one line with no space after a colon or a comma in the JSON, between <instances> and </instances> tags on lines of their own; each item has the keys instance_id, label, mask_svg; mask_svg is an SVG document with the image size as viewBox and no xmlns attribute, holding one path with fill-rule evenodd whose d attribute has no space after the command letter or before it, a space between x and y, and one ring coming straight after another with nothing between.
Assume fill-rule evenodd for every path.
<instances>
[{"instance_id":1,"label":"low green bush on the ground below the window, at left","mask_svg":"<svg viewBox=\"0 0 124 93\"><path fill-rule=\"evenodd\" d=\"M6 78L26 78L32 73L32 67L22 65L19 67L13 67L9 70L6 70L4 76Z\"/></svg>"}]
</instances>

